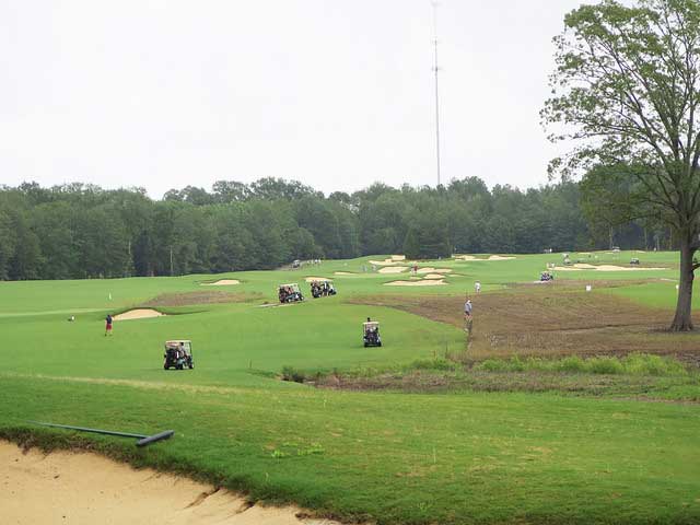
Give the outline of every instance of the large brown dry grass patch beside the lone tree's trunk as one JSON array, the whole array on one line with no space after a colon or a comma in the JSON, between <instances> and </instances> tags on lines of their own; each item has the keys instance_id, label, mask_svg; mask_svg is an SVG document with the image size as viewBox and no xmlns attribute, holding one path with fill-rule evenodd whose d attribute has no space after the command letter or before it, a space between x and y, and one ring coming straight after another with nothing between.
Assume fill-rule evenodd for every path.
<instances>
[{"instance_id":1,"label":"large brown dry grass patch beside the lone tree's trunk","mask_svg":"<svg viewBox=\"0 0 700 525\"><path fill-rule=\"evenodd\" d=\"M672 313L623 298L568 287L524 287L471 300L475 316L469 359L645 352L700 360L700 334L665 332ZM464 326L462 296L377 295L353 302Z\"/></svg>"}]
</instances>

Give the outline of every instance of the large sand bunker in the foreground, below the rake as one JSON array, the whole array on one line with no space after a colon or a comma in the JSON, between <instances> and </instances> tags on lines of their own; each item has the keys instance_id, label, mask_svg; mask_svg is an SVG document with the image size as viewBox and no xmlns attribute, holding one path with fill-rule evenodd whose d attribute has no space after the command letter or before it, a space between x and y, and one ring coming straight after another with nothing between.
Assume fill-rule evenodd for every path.
<instances>
[{"instance_id":1,"label":"large sand bunker in the foreground, below the rake","mask_svg":"<svg viewBox=\"0 0 700 525\"><path fill-rule=\"evenodd\" d=\"M250 505L226 490L160 474L135 470L91 453L31 450L0 441L2 523L128 523L131 525L312 525L293 506Z\"/></svg>"}]
</instances>

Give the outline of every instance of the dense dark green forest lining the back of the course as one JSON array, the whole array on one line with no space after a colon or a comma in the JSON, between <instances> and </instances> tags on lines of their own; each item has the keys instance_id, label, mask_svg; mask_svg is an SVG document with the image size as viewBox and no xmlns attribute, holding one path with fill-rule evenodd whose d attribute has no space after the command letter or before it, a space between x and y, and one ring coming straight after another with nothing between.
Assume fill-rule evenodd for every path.
<instances>
[{"instance_id":1,"label":"dense dark green forest lining the back of the course","mask_svg":"<svg viewBox=\"0 0 700 525\"><path fill-rule=\"evenodd\" d=\"M477 177L329 196L279 178L221 180L162 200L141 188L0 186L0 279L222 272L368 254L670 247L667 232L614 223L580 191L573 182L489 190Z\"/></svg>"}]
</instances>

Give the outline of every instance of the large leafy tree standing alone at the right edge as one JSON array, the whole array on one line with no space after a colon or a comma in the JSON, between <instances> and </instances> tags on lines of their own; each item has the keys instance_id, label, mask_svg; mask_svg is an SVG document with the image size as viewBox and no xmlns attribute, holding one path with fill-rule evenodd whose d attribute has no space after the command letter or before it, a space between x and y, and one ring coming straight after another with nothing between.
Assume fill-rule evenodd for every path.
<instances>
[{"instance_id":1,"label":"large leafy tree standing alone at the right edge","mask_svg":"<svg viewBox=\"0 0 700 525\"><path fill-rule=\"evenodd\" d=\"M555 167L635 166L635 199L652 207L680 245L672 330L691 330L700 232L700 2L612 0L583 5L555 38L557 68L544 121L575 148Z\"/></svg>"}]
</instances>

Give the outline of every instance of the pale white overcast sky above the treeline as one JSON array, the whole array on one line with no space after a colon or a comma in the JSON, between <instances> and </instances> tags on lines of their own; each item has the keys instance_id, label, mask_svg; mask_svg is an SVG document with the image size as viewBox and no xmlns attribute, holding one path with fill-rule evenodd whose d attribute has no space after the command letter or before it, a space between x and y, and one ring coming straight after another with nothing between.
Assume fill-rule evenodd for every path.
<instances>
[{"instance_id":1,"label":"pale white overcast sky above the treeline","mask_svg":"<svg viewBox=\"0 0 700 525\"><path fill-rule=\"evenodd\" d=\"M580 0L442 0L443 182L547 180ZM429 0L0 0L0 183L435 184Z\"/></svg>"}]
</instances>

